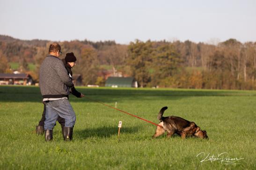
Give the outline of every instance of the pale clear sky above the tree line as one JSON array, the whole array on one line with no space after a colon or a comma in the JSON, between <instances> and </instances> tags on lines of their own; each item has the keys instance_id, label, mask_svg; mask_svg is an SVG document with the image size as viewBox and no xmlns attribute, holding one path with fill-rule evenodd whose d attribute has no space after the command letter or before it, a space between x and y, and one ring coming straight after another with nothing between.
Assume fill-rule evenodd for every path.
<instances>
[{"instance_id":1,"label":"pale clear sky above the tree line","mask_svg":"<svg viewBox=\"0 0 256 170\"><path fill-rule=\"evenodd\" d=\"M0 0L0 34L23 40L256 41L256 0Z\"/></svg>"}]
</instances>

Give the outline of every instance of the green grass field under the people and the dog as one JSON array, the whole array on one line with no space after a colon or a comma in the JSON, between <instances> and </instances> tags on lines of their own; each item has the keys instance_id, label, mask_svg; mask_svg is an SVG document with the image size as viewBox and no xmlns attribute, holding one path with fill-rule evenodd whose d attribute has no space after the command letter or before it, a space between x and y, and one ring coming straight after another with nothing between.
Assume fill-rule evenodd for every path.
<instances>
[{"instance_id":1,"label":"green grass field under the people and the dog","mask_svg":"<svg viewBox=\"0 0 256 170\"><path fill-rule=\"evenodd\" d=\"M38 87L0 86L0 169L24 170L255 170L256 91L77 88L95 100L158 123L157 115L181 116L207 130L209 140L179 136L152 139L155 126L85 98L70 97L77 116L73 141L61 128L54 140L34 133L43 111ZM123 121L117 140L118 122ZM227 152L243 158L200 163ZM206 157L206 156L205 156ZM221 156L219 156L220 158ZM226 155L225 155L226 157ZM221 157L222 158L222 157ZM209 160L209 157L206 158Z\"/></svg>"}]
</instances>

